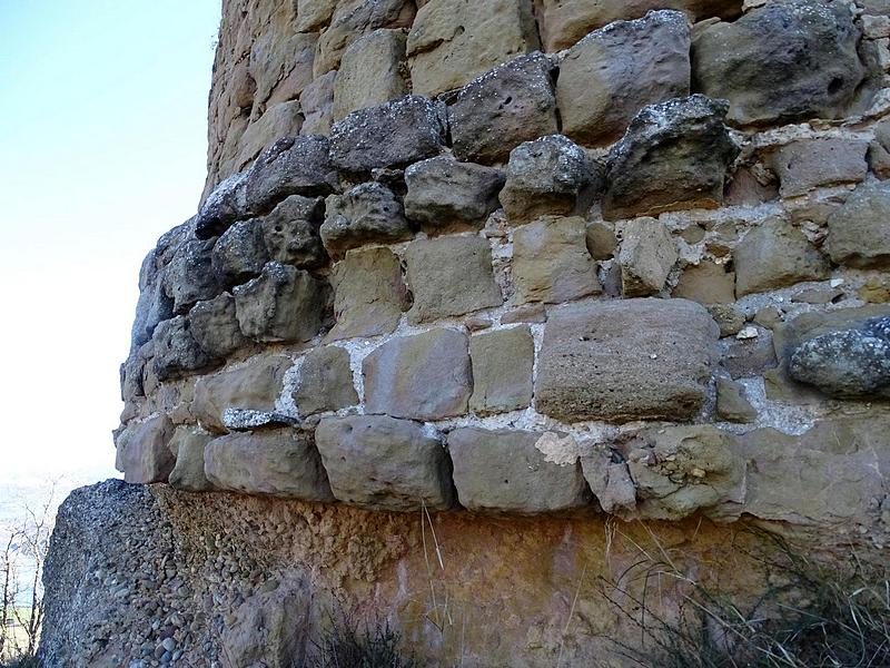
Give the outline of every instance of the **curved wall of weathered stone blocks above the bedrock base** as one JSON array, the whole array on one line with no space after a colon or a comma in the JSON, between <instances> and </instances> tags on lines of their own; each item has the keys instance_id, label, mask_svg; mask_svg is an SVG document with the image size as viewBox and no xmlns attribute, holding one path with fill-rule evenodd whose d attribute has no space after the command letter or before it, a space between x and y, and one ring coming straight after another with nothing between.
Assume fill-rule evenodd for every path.
<instances>
[{"instance_id":1,"label":"curved wall of weathered stone blocks above the bedrock base","mask_svg":"<svg viewBox=\"0 0 890 668\"><path fill-rule=\"evenodd\" d=\"M225 3L127 481L882 544L890 11L418 4Z\"/></svg>"}]
</instances>

